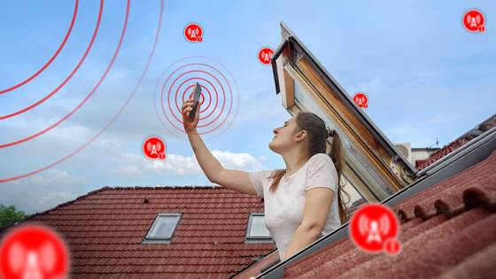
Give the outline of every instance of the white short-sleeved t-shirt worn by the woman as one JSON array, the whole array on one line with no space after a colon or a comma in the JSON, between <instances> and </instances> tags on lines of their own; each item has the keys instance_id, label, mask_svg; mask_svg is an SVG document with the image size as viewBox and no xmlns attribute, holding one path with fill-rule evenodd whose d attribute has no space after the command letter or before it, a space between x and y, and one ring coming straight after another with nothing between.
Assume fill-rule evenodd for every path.
<instances>
[{"instance_id":1,"label":"white short-sleeved t-shirt worn by the woman","mask_svg":"<svg viewBox=\"0 0 496 279\"><path fill-rule=\"evenodd\" d=\"M298 171L284 175L274 193L269 192L274 170L248 173L257 194L264 198L265 225L272 233L280 259L285 255L291 238L303 220L306 190L325 187L334 190L334 198L320 237L328 235L341 226L337 211L337 171L332 159L317 153L306 161ZM282 260L282 259L281 259Z\"/></svg>"}]
</instances>

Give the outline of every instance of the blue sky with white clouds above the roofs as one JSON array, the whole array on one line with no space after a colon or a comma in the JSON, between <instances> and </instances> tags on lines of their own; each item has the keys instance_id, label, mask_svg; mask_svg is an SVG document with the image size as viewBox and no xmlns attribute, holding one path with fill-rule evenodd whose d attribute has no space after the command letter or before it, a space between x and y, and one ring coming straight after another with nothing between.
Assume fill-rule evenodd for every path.
<instances>
[{"instance_id":1,"label":"blue sky with white clouds above the roofs","mask_svg":"<svg viewBox=\"0 0 496 279\"><path fill-rule=\"evenodd\" d=\"M268 143L273 129L291 116L275 94L271 67L257 58L262 47L275 50L281 43L282 21L350 96L366 93L364 112L392 143L436 147L438 140L442 147L496 111L493 1L174 0L162 9L159 0L127 4L105 1L96 28L100 1L80 1L57 57L26 84L0 94L1 118L60 87L33 109L0 119L0 204L37 213L104 186L211 185L187 137L168 124L172 112L160 113L157 88L172 88L167 75L188 63L212 66L202 71L225 79L211 89L222 85L232 94L217 97L233 110L221 112L216 123L226 121L204 136L222 166L283 168ZM75 3L0 5L2 90L27 80L57 53ZM463 27L469 9L484 13L484 33ZM201 43L184 38L191 22L203 27ZM220 105L213 107L217 112ZM164 139L165 160L144 158L148 136Z\"/></svg>"}]
</instances>

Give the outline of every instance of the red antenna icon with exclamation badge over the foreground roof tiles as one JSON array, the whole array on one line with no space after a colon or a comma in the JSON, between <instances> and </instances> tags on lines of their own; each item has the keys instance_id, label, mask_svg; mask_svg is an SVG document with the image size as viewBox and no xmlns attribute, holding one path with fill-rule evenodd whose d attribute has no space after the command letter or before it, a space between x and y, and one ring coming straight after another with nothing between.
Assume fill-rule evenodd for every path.
<instances>
[{"instance_id":1,"label":"red antenna icon with exclamation badge over the foreground roof tiles","mask_svg":"<svg viewBox=\"0 0 496 279\"><path fill-rule=\"evenodd\" d=\"M350 236L353 243L363 251L382 252L390 249L391 253L399 252L395 243L388 243L389 240L397 241L398 233L398 219L386 205L363 205L353 214Z\"/></svg>"}]
</instances>

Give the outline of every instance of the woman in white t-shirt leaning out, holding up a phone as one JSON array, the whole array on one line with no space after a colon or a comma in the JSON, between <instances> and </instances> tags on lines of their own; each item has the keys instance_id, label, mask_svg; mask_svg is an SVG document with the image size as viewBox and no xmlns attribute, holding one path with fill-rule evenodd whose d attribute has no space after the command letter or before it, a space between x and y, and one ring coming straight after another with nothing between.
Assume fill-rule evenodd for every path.
<instances>
[{"instance_id":1,"label":"woman in white t-shirt leaning out, holding up a phone","mask_svg":"<svg viewBox=\"0 0 496 279\"><path fill-rule=\"evenodd\" d=\"M206 177L222 187L264 198L265 224L274 236L281 260L329 234L346 221L339 177L341 143L337 133L311 112L299 112L274 129L270 150L283 156L286 168L244 172L225 169L198 135L200 104L194 119L188 115L193 100L182 105L184 129ZM332 147L326 154L326 139Z\"/></svg>"}]
</instances>

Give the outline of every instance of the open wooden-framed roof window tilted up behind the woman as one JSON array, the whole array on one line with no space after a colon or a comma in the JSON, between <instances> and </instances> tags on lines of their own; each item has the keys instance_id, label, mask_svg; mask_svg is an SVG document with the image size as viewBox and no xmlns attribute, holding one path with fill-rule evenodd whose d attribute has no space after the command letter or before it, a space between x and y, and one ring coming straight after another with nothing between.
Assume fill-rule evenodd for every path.
<instances>
[{"instance_id":1,"label":"open wooden-framed roof window tilted up behind the woman","mask_svg":"<svg viewBox=\"0 0 496 279\"><path fill-rule=\"evenodd\" d=\"M314 112L337 131L350 185L368 202L378 202L415 182L418 172L405 156L291 30L283 23L281 27L283 43L272 58L276 93L291 115ZM330 143L331 138L328 151Z\"/></svg>"}]
</instances>

